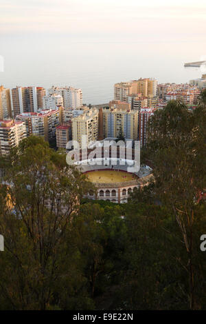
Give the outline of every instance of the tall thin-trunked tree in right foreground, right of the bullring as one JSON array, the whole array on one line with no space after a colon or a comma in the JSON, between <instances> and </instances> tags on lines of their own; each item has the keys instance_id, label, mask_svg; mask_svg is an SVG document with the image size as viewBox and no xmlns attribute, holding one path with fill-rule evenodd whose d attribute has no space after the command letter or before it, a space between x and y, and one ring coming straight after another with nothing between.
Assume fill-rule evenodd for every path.
<instances>
[{"instance_id":1,"label":"tall thin-trunked tree in right foreground, right of the bullring","mask_svg":"<svg viewBox=\"0 0 206 324\"><path fill-rule=\"evenodd\" d=\"M170 101L150 119L148 159L155 165L155 192L170 205L181 230L189 274L190 309L198 308L194 269L194 226L200 192L205 188L205 105L191 113L179 101ZM202 215L203 217L203 215ZM201 235L201 233L200 233Z\"/></svg>"}]
</instances>

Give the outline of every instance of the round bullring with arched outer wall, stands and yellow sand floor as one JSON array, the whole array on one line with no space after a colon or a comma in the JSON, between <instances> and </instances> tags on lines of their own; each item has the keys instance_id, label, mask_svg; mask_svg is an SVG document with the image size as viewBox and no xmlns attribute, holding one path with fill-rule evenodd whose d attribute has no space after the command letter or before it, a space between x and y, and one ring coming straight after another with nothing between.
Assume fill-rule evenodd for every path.
<instances>
[{"instance_id":1,"label":"round bullring with arched outer wall, stands and yellow sand floor","mask_svg":"<svg viewBox=\"0 0 206 324\"><path fill-rule=\"evenodd\" d=\"M102 144L104 144L103 141ZM113 157L112 148L106 151L106 157L104 157L104 147L100 146L100 149L98 158L95 156L91 159L90 154L93 151L87 151L86 156L85 152L80 151L73 160L73 164L88 181L93 183L93 189L89 190L84 197L111 203L127 203L133 192L150 181L152 168L148 165L141 165L137 168L139 162L135 160L133 149L125 148L124 158L120 157L118 150L117 157ZM131 153L130 159L127 159L128 150ZM71 154L74 152L75 150Z\"/></svg>"}]
</instances>

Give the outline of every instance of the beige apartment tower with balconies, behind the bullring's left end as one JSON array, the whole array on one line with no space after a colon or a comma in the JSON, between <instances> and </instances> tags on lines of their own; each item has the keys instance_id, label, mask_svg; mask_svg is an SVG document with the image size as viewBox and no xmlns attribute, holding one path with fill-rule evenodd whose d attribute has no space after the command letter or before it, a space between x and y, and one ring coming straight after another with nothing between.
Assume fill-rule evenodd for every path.
<instances>
[{"instance_id":1,"label":"beige apartment tower with balconies, behind the bullring's left end","mask_svg":"<svg viewBox=\"0 0 206 324\"><path fill-rule=\"evenodd\" d=\"M71 120L72 139L77 141L80 148L83 144L88 146L89 142L98 140L99 111L96 108L84 111L80 116ZM83 136L85 142L83 142Z\"/></svg>"}]
</instances>

